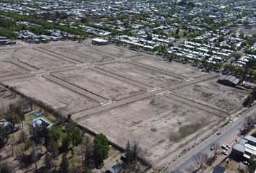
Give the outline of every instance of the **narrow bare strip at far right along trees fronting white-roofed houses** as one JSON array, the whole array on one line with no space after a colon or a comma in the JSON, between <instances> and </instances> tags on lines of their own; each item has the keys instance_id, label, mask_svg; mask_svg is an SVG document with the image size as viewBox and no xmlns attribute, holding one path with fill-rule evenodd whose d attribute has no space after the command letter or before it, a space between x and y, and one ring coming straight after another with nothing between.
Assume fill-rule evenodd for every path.
<instances>
[{"instance_id":1,"label":"narrow bare strip at far right along trees fronting white-roofed houses","mask_svg":"<svg viewBox=\"0 0 256 173\"><path fill-rule=\"evenodd\" d=\"M204 74L197 68L192 68L190 66L182 65L176 62L169 63L160 59L147 56L145 56L145 58L134 58L132 59L132 61L143 63L148 66L153 66L164 71L169 71L173 74L176 74L177 76L184 76L186 78L195 78Z\"/></svg>"}]
</instances>

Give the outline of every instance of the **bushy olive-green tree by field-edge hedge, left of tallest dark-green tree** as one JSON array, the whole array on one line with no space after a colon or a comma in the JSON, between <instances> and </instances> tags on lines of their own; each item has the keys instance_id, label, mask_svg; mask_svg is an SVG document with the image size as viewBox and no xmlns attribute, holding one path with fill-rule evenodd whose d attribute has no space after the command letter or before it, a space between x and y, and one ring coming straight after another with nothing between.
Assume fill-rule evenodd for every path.
<instances>
[{"instance_id":1,"label":"bushy olive-green tree by field-edge hedge, left of tallest dark-green tree","mask_svg":"<svg viewBox=\"0 0 256 173\"><path fill-rule=\"evenodd\" d=\"M67 124L66 128L67 134L72 141L73 147L82 143L83 133L80 128L77 127L76 123L70 122Z\"/></svg>"}]
</instances>

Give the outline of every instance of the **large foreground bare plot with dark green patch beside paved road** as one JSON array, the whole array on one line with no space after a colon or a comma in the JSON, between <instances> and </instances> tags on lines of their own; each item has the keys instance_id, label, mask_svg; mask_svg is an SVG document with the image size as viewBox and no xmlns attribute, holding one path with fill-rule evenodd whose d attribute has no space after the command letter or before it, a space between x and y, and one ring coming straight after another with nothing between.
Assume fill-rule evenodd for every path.
<instances>
[{"instance_id":1,"label":"large foreground bare plot with dark green patch beside paved road","mask_svg":"<svg viewBox=\"0 0 256 173\"><path fill-rule=\"evenodd\" d=\"M85 116L77 123L106 134L124 148L128 140L137 141L146 159L157 161L187 143L192 133L203 133L220 120L221 117L168 97L153 96Z\"/></svg>"}]
</instances>

